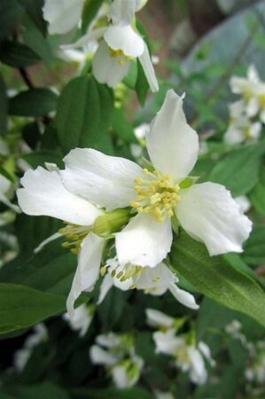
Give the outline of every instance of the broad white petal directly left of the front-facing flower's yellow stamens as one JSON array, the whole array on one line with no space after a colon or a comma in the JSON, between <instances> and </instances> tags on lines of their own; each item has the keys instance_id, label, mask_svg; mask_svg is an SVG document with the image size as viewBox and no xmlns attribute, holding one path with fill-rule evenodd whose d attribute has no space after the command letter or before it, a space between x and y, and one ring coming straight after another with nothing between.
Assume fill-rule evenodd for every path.
<instances>
[{"instance_id":1,"label":"broad white petal directly left of the front-facing flower's yellow stamens","mask_svg":"<svg viewBox=\"0 0 265 399\"><path fill-rule=\"evenodd\" d=\"M135 162L76 148L66 155L65 163L61 176L70 192L107 210L128 207L136 199L134 178L142 175L142 168Z\"/></svg>"}]
</instances>

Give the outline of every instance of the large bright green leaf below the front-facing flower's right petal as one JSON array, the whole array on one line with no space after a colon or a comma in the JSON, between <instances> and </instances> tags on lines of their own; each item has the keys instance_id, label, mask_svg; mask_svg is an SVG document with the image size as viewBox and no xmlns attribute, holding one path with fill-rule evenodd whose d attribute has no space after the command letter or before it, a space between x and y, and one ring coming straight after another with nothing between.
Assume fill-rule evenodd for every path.
<instances>
[{"instance_id":1,"label":"large bright green leaf below the front-facing flower's right petal","mask_svg":"<svg viewBox=\"0 0 265 399\"><path fill-rule=\"evenodd\" d=\"M207 297L238 310L265 326L265 294L252 278L234 269L222 256L209 256L203 244L182 229L171 251L172 265Z\"/></svg>"}]
</instances>

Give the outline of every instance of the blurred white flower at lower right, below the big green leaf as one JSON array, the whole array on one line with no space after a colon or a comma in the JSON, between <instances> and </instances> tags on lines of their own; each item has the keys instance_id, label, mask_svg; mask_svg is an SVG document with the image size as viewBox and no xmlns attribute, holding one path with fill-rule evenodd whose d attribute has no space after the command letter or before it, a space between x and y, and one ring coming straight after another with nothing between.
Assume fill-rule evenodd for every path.
<instances>
[{"instance_id":1,"label":"blurred white flower at lower right, below the big green leaf","mask_svg":"<svg viewBox=\"0 0 265 399\"><path fill-rule=\"evenodd\" d=\"M176 336L175 329L166 332L154 332L153 339L156 352L175 357L175 364L183 372L189 372L194 384L204 384L207 381L207 369L204 357L210 364L214 361L210 350L204 342L199 342L198 348L188 344L184 336Z\"/></svg>"}]
</instances>

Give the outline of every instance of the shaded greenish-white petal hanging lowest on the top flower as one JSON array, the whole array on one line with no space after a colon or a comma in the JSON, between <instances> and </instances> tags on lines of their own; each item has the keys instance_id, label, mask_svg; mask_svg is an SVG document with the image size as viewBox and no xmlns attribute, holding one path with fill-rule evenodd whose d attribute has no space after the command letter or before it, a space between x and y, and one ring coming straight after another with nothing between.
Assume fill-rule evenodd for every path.
<instances>
[{"instance_id":1,"label":"shaded greenish-white petal hanging lowest on the top flower","mask_svg":"<svg viewBox=\"0 0 265 399\"><path fill-rule=\"evenodd\" d=\"M111 57L110 51L109 46L102 40L92 61L92 71L97 82L115 87L129 73L130 62L123 62L121 56Z\"/></svg>"}]
</instances>

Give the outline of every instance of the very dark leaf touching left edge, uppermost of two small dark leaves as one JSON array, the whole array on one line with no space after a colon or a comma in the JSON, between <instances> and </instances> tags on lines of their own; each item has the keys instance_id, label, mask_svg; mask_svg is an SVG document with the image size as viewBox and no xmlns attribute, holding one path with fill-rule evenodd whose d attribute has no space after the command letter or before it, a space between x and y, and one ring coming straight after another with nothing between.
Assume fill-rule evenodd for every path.
<instances>
[{"instance_id":1,"label":"very dark leaf touching left edge, uppermost of two small dark leaves","mask_svg":"<svg viewBox=\"0 0 265 399\"><path fill-rule=\"evenodd\" d=\"M0 44L0 61L14 68L34 65L40 62L39 56L26 44L5 40Z\"/></svg>"}]
</instances>

